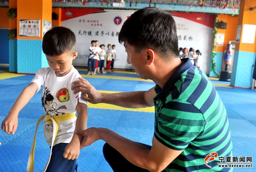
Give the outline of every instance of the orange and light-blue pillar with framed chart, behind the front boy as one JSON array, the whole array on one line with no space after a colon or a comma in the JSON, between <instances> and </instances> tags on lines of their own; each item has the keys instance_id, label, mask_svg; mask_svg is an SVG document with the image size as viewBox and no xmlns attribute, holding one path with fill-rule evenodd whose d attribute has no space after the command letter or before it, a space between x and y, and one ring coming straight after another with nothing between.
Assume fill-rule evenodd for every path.
<instances>
[{"instance_id":1,"label":"orange and light-blue pillar with framed chart, behind the front boy","mask_svg":"<svg viewBox=\"0 0 256 172\"><path fill-rule=\"evenodd\" d=\"M17 12L17 72L35 73L48 66L42 38L45 24L51 22L52 1L17 0Z\"/></svg>"}]
</instances>

